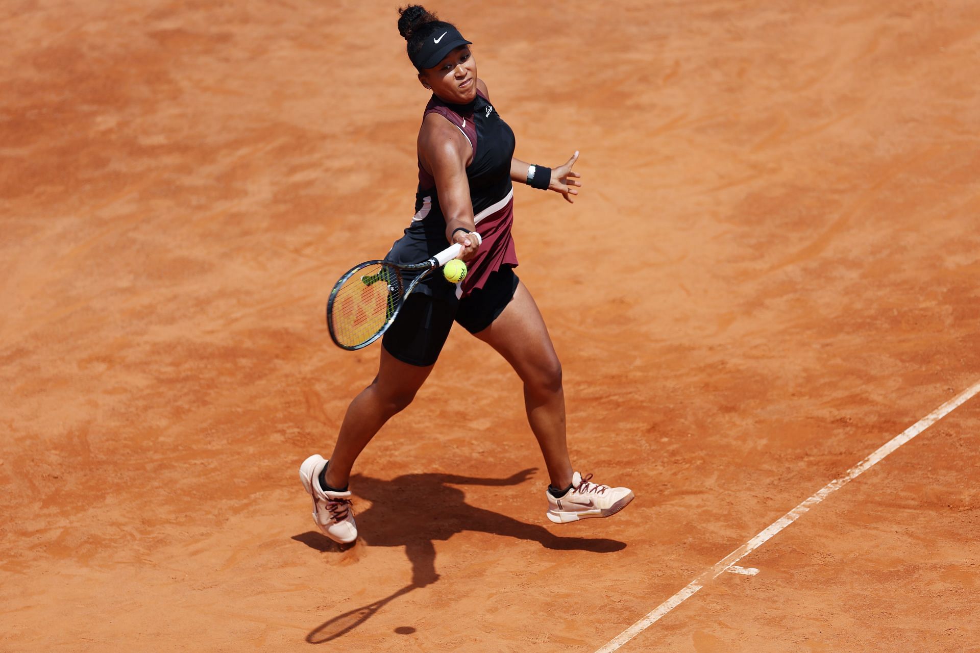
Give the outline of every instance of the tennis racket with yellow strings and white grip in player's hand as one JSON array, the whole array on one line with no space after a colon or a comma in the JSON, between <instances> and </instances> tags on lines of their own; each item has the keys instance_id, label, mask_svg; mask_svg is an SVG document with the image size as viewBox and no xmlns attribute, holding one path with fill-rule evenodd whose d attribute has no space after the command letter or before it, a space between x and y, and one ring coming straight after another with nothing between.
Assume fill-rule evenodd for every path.
<instances>
[{"instance_id":1,"label":"tennis racket with yellow strings and white grip in player's hand","mask_svg":"<svg viewBox=\"0 0 980 653\"><path fill-rule=\"evenodd\" d=\"M326 327L334 344L349 351L368 347L395 321L418 282L462 250L457 243L414 265L368 260L348 271L326 302Z\"/></svg>"}]
</instances>

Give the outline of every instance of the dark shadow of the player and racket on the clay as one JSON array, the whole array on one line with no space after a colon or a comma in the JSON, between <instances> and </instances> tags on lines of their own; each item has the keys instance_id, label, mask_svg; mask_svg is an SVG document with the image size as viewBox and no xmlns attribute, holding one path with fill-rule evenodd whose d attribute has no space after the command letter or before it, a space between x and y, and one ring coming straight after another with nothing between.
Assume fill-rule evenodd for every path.
<instances>
[{"instance_id":1,"label":"dark shadow of the player and racket on the clay","mask_svg":"<svg viewBox=\"0 0 980 653\"><path fill-rule=\"evenodd\" d=\"M321 644L356 629L382 606L439 580L435 571L437 539L473 531L540 542L545 548L611 553L626 547L623 542L603 537L556 536L543 526L525 524L513 517L466 503L463 490L453 486L515 486L527 480L533 469L517 472L509 479L477 479L453 474L406 474L392 481L356 475L351 490L371 505L356 515L361 539L370 546L404 546L412 561L412 583L366 606L331 617L311 630L306 640ZM541 497L542 504L544 497ZM542 506L542 512L544 512ZM357 503L355 503L355 509ZM542 518L544 515L542 515ZM293 539L319 551L345 550L319 533L309 532Z\"/></svg>"}]
</instances>

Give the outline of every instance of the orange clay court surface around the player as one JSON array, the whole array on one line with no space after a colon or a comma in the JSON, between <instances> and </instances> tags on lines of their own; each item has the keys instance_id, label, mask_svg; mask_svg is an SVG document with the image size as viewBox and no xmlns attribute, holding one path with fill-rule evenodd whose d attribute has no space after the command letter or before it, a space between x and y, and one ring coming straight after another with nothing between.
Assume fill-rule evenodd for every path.
<instances>
[{"instance_id":1,"label":"orange clay court surface around the player","mask_svg":"<svg viewBox=\"0 0 980 653\"><path fill-rule=\"evenodd\" d=\"M333 281L413 212L427 99L374 2L0 8L0 650L592 653L980 380L980 5L458 2L516 155L577 469L456 330L320 536L378 346ZM627 643L980 651L980 398ZM311 642L311 643L307 643Z\"/></svg>"}]
</instances>

